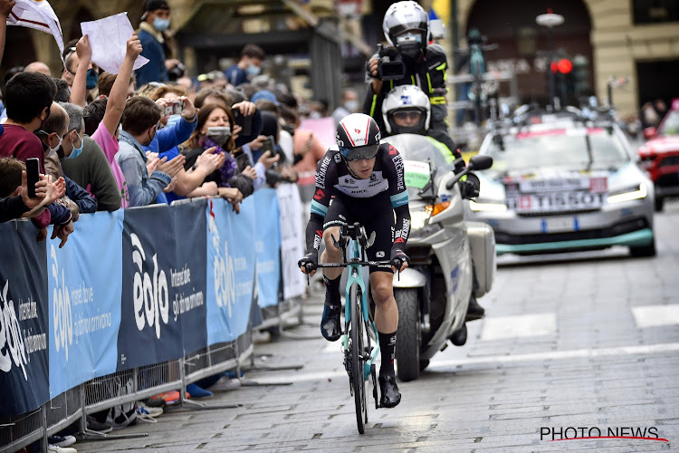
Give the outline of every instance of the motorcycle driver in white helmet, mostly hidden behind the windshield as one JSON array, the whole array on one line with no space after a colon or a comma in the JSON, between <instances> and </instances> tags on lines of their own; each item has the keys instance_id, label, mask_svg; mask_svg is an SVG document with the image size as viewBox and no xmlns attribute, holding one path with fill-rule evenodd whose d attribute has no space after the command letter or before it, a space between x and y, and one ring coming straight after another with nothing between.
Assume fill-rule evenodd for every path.
<instances>
[{"instance_id":1,"label":"motorcycle driver in white helmet, mostly hidden behind the windshield","mask_svg":"<svg viewBox=\"0 0 679 453\"><path fill-rule=\"evenodd\" d=\"M382 102L382 120L389 135L396 134L417 134L431 137L429 123L431 120L431 106L429 97L416 85L400 85L387 93ZM449 158L452 153L449 143L453 140L447 134L448 140L438 140L432 137L435 145L442 151L445 157ZM439 137L441 137L439 135ZM446 142L447 141L447 142ZM464 164L462 166L464 168ZM458 182L463 198L478 196L479 178L473 174L468 174ZM474 288L478 286L476 273L473 274ZM467 321L481 318L485 309L472 297L467 311Z\"/></svg>"}]
</instances>

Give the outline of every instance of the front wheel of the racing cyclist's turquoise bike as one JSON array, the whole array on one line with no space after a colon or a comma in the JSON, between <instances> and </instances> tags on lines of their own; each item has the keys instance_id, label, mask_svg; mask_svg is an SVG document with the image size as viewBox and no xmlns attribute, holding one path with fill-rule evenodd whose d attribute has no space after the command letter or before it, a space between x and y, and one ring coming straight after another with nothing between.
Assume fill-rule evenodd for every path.
<instances>
[{"instance_id":1,"label":"front wheel of the racing cyclist's turquoise bike","mask_svg":"<svg viewBox=\"0 0 679 453\"><path fill-rule=\"evenodd\" d=\"M359 433L365 432L368 422L368 404L366 404L366 381L363 377L363 350L368 343L365 338L363 317L360 315L361 293L358 284L352 284L349 290L349 304L351 304L351 324L349 338L351 340L351 386L354 390L354 404L356 405L356 425Z\"/></svg>"}]
</instances>

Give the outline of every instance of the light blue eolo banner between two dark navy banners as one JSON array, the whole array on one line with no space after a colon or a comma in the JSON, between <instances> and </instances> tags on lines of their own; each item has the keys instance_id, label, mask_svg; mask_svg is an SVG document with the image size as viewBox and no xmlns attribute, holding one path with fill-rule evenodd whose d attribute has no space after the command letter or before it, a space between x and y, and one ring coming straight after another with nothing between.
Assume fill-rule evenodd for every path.
<instances>
[{"instance_id":1,"label":"light blue eolo banner between two dark navy banners","mask_svg":"<svg viewBox=\"0 0 679 453\"><path fill-rule=\"evenodd\" d=\"M50 398L116 371L122 210L81 215L68 243L47 243Z\"/></svg>"}]
</instances>

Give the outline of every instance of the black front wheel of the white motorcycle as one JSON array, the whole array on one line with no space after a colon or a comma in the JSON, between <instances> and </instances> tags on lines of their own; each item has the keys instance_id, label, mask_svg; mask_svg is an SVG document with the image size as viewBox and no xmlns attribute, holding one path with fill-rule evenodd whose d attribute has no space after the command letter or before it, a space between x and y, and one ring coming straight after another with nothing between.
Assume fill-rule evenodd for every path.
<instances>
[{"instance_id":1,"label":"black front wheel of the white motorcycle","mask_svg":"<svg viewBox=\"0 0 679 453\"><path fill-rule=\"evenodd\" d=\"M415 381L420 375L420 320L416 289L395 289L398 305L396 348L397 374L401 381Z\"/></svg>"}]
</instances>

